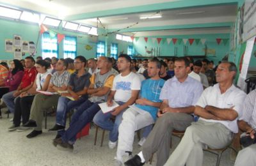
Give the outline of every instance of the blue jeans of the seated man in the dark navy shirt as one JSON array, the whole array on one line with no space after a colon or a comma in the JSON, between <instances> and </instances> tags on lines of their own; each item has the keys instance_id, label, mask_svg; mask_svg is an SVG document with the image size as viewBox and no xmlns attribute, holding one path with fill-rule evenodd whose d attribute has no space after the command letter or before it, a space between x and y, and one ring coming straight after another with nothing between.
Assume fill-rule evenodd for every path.
<instances>
[{"instance_id":1,"label":"blue jeans of the seated man in the dark navy shirt","mask_svg":"<svg viewBox=\"0 0 256 166\"><path fill-rule=\"evenodd\" d=\"M86 99L79 98L79 100L70 100L64 96L61 96L58 100L58 106L56 110L56 124L61 126L66 126L66 119L67 113L72 110L76 109L83 103Z\"/></svg>"}]
</instances>

